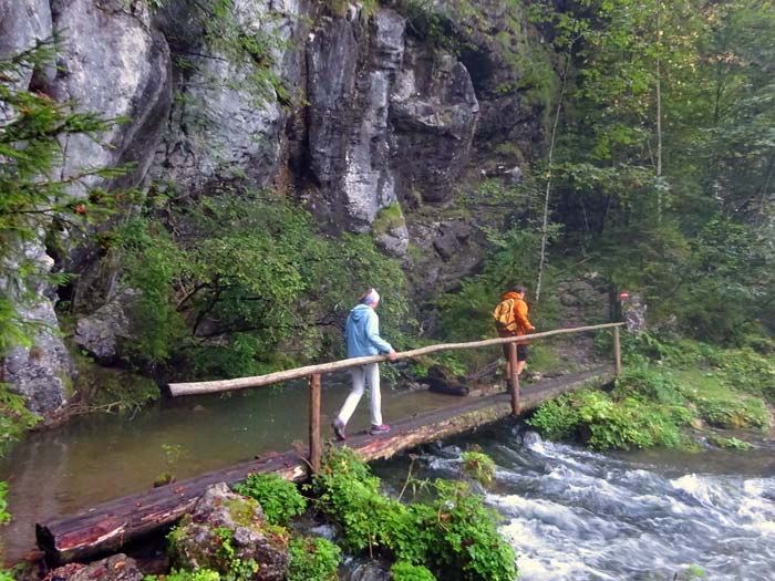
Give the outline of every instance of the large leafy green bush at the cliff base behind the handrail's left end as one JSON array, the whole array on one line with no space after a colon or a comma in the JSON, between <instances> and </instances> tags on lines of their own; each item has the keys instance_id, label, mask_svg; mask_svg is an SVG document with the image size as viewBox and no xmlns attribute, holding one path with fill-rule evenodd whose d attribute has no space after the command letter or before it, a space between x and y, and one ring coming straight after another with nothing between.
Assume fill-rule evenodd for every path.
<instances>
[{"instance_id":1,"label":"large leafy green bush at the cliff base behind the handrail's left end","mask_svg":"<svg viewBox=\"0 0 775 581\"><path fill-rule=\"evenodd\" d=\"M170 231L180 222L185 231ZM384 336L401 345L401 329L413 322L399 261L366 235L331 239L312 230L300 206L269 191L149 199L146 214L114 237L125 283L141 291L133 309L140 338L130 356L186 362L175 366L223 377L285 366L287 351L301 360L330 354L341 345L330 326L369 286L384 298Z\"/></svg>"}]
</instances>

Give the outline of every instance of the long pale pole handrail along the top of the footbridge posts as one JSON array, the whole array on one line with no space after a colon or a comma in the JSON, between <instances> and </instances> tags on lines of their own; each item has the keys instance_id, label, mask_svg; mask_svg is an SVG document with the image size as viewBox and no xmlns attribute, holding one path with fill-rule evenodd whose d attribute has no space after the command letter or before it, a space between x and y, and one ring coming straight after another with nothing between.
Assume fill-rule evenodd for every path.
<instances>
[{"instance_id":1,"label":"long pale pole handrail along the top of the footbridge posts","mask_svg":"<svg viewBox=\"0 0 775 581\"><path fill-rule=\"evenodd\" d=\"M536 339L542 339L547 336L580 333L583 331L598 331L600 329L616 329L619 330L624 323L604 323L598 325L588 326L577 326L572 329L556 329L554 331L545 331L542 333L533 333L530 335L523 336L506 336L498 339L485 339L483 341L472 341L468 343L438 343L435 345L427 345L420 349L414 349L411 351L403 351L396 354L395 361L404 359L418 357L420 355L426 355L428 353L435 353L437 351L456 350L456 349L477 349L486 347L490 345L502 345L506 343L518 343L520 341L534 341ZM618 343L618 342L617 342ZM619 354L616 354L617 361ZM292 370L277 371L273 373L268 373L266 375L256 375L252 377L238 377L235 380L217 380L209 382L187 382L187 383L170 383L167 385L169 394L173 397L179 395L200 395L206 393L218 393L218 392L229 392L232 390L245 390L248 387L260 387L264 385L271 385L275 383L281 383L289 380L298 380L301 377L308 377L314 374L331 373L334 371L348 370L350 367L356 367L358 365L365 365L369 363L379 363L382 361L389 361L388 355L370 355L366 357L351 357L340 361L334 361L332 363L319 363L317 365L307 365L304 367L296 367Z\"/></svg>"}]
</instances>

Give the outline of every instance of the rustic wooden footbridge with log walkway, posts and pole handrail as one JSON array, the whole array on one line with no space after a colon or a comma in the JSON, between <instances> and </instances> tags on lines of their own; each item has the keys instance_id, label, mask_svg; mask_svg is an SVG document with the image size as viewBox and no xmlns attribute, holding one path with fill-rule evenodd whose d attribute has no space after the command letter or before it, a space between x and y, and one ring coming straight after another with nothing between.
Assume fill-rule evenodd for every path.
<instances>
[{"instance_id":1,"label":"rustic wooden footbridge with log walkway, posts and pole handrail","mask_svg":"<svg viewBox=\"0 0 775 581\"><path fill-rule=\"evenodd\" d=\"M366 461L389 458L394 454L421 444L435 442L475 429L512 414L538 407L542 402L574 391L589 382L607 383L621 371L619 328L623 323L608 323L576 329L559 329L530 335L537 339L610 329L613 333L613 364L539 382L520 388L516 374L512 376L510 395L506 393L479 394L457 400L454 405L418 414L411 418L391 422L391 432L371 436L350 436L347 445ZM446 343L406 351L397 360L413 359L445 350L480 349L493 345L509 345L510 369L516 370L516 344L526 338L504 338L472 343ZM99 554L115 552L124 544L173 526L194 508L208 486L217 483L245 480L251 473L272 473L281 477L303 481L310 473L320 468L322 452L320 434L320 385L321 375L368 363L386 361L385 355L355 357L320 365L270 373L257 377L242 377L200 383L169 384L172 396L205 394L271 385L289 380L309 377L309 447L303 452L287 452L266 460L251 460L226 469L209 473L179 483L154 488L146 492L120 498L94 507L79 515L49 523L35 525L39 547L51 564L91 559ZM341 444L338 444L341 445ZM306 454L304 454L306 453Z\"/></svg>"}]
</instances>

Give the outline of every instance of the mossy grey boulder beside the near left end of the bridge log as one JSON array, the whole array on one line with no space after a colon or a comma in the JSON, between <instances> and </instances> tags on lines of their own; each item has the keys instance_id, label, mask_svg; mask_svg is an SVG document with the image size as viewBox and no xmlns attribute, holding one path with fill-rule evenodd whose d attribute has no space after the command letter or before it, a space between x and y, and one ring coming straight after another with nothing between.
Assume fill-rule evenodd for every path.
<instances>
[{"instance_id":1,"label":"mossy grey boulder beside the near left end of the bridge log","mask_svg":"<svg viewBox=\"0 0 775 581\"><path fill-rule=\"evenodd\" d=\"M257 581L282 581L288 566L287 539L268 532L264 510L250 498L231 492L226 483L210 486L170 538L173 562L187 570L224 569L224 531L234 550L229 560L254 560L258 570L249 578Z\"/></svg>"}]
</instances>

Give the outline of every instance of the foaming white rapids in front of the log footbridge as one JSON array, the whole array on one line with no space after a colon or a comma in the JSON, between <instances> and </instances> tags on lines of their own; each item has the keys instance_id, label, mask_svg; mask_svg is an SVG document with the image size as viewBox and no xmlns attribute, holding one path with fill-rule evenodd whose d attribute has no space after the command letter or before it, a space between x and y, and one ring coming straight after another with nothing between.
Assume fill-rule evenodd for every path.
<instances>
[{"instance_id":1,"label":"foaming white rapids in front of the log footbridge","mask_svg":"<svg viewBox=\"0 0 775 581\"><path fill-rule=\"evenodd\" d=\"M458 478L477 444L497 465L486 502L524 581L775 579L775 444L747 453L603 455L520 436L513 423L423 452L418 478ZM407 461L375 466L394 491Z\"/></svg>"}]
</instances>

